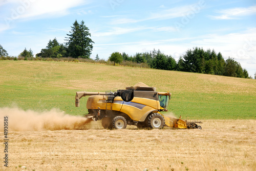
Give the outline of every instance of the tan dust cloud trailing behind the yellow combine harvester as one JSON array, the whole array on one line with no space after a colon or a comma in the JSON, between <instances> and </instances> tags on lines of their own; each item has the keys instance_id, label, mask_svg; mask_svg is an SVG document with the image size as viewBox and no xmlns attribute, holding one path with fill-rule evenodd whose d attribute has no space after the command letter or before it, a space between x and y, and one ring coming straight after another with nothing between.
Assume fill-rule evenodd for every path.
<instances>
[{"instance_id":1,"label":"tan dust cloud trailing behind the yellow combine harvester","mask_svg":"<svg viewBox=\"0 0 256 171\"><path fill-rule=\"evenodd\" d=\"M17 107L0 108L0 131L4 131L4 116L8 116L8 131L83 130L91 120L65 114L58 109L36 112Z\"/></svg>"}]
</instances>

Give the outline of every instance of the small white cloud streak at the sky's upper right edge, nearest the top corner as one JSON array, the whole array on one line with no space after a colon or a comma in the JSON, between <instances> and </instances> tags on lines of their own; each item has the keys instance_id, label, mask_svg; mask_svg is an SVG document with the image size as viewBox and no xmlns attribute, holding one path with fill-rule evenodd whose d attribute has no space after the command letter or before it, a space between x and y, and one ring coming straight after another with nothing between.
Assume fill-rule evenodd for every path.
<instances>
[{"instance_id":1,"label":"small white cloud streak at the sky's upper right edge, nearest the top corner","mask_svg":"<svg viewBox=\"0 0 256 171\"><path fill-rule=\"evenodd\" d=\"M220 15L209 15L208 17L211 19L238 19L241 16L255 15L256 14L256 6L251 6L248 8L231 8L216 11Z\"/></svg>"}]
</instances>

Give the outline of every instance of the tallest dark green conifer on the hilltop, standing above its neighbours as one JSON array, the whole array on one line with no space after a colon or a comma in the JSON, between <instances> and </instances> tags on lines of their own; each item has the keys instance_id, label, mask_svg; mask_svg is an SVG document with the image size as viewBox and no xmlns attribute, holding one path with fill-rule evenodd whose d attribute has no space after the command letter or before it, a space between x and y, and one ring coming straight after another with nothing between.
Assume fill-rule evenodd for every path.
<instances>
[{"instance_id":1,"label":"tallest dark green conifer on the hilltop, standing above its neighbours","mask_svg":"<svg viewBox=\"0 0 256 171\"><path fill-rule=\"evenodd\" d=\"M90 58L94 42L88 27L83 20L80 24L76 20L71 28L70 34L67 34L69 37L66 37L69 55L73 58Z\"/></svg>"}]
</instances>

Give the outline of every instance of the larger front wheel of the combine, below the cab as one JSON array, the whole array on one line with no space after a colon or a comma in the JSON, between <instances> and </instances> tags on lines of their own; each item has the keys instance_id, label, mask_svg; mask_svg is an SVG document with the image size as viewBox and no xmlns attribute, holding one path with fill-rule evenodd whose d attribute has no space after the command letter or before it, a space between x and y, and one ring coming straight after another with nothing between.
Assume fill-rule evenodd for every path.
<instances>
[{"instance_id":1,"label":"larger front wheel of the combine, below the cab","mask_svg":"<svg viewBox=\"0 0 256 171\"><path fill-rule=\"evenodd\" d=\"M162 129L165 125L165 120L160 113L152 113L147 117L147 123L151 128Z\"/></svg>"}]
</instances>

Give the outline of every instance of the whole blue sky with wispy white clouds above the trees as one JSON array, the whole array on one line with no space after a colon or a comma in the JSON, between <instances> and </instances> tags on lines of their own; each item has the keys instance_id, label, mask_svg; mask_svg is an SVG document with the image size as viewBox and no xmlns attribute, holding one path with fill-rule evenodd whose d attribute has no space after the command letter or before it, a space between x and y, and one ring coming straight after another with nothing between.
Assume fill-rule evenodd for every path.
<instances>
[{"instance_id":1,"label":"whole blue sky with wispy white clouds above the trees","mask_svg":"<svg viewBox=\"0 0 256 171\"><path fill-rule=\"evenodd\" d=\"M89 28L91 58L160 50L176 61L188 49L215 50L256 72L256 1L0 0L0 44L10 56L40 53L77 20Z\"/></svg>"}]
</instances>

